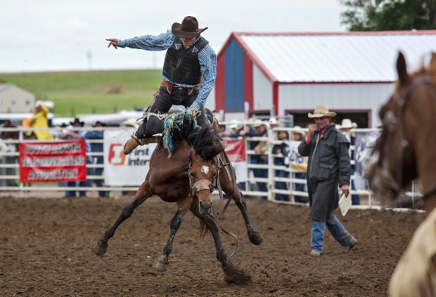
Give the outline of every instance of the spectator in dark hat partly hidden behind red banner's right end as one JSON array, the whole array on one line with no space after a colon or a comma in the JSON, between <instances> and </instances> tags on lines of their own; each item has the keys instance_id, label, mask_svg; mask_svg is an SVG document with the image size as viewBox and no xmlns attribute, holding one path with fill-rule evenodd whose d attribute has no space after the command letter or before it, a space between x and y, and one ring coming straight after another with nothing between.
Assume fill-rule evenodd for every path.
<instances>
[{"instance_id":1,"label":"spectator in dark hat partly hidden behind red banner's right end","mask_svg":"<svg viewBox=\"0 0 436 297\"><path fill-rule=\"evenodd\" d=\"M58 138L65 139L65 140L84 140L86 131L81 130L81 128L84 126L84 122L80 121L79 118L75 118L74 121L70 121L70 125L72 126L72 131L65 131L63 133L58 134ZM89 143L86 143L86 152L91 151L91 146ZM88 156L86 157L86 163L92 163L92 159ZM90 174L89 169L86 169L86 174ZM75 181L69 181L68 187L86 187L91 186L89 182L86 181L79 181L77 184ZM73 198L77 197L77 192L75 190L68 190L65 192L66 198ZM79 197L86 197L86 191L85 190L79 190Z\"/></svg>"}]
</instances>

